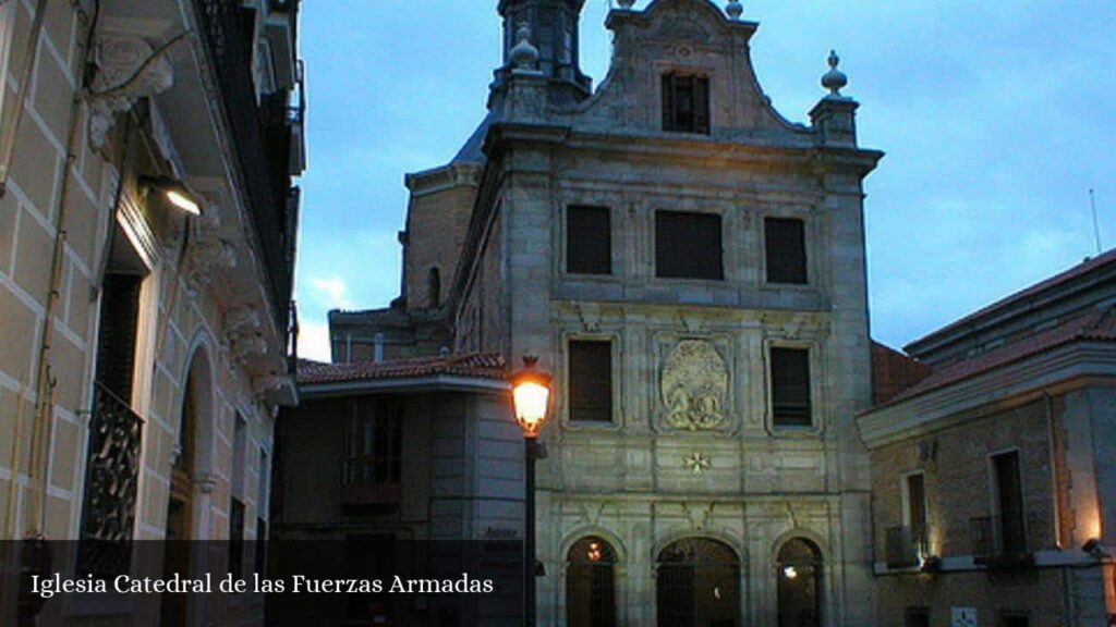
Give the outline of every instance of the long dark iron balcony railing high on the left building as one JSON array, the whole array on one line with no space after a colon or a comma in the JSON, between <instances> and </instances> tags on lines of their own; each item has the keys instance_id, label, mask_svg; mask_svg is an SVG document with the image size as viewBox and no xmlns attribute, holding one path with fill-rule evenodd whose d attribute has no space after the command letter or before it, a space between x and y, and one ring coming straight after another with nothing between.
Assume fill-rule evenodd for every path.
<instances>
[{"instance_id":1,"label":"long dark iron balcony railing high on the left building","mask_svg":"<svg viewBox=\"0 0 1116 627\"><path fill-rule=\"evenodd\" d=\"M221 89L224 117L232 133L242 199L252 215L267 267L272 316L277 327L286 329L295 250L295 233L288 232L291 224L288 215L290 179L286 167L289 147L279 149L267 141L273 124L270 127L266 124L251 68L254 13L238 0L198 0L194 6L210 66ZM286 94L282 98L279 123L285 125Z\"/></svg>"}]
</instances>

